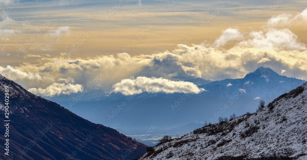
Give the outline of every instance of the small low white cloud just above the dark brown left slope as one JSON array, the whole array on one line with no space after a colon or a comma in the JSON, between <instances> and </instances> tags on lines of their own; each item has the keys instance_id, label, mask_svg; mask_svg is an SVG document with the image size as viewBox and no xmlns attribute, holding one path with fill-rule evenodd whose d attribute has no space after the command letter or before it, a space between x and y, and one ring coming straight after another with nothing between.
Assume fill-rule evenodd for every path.
<instances>
[{"instance_id":1,"label":"small low white cloud just above the dark brown left slope","mask_svg":"<svg viewBox=\"0 0 307 160\"><path fill-rule=\"evenodd\" d=\"M46 89L43 88L29 88L28 91L33 94L43 95L43 96L55 96L55 95L69 95L72 93L82 92L83 86L81 84L73 84L74 79L59 79L59 81L64 81L65 83L52 83Z\"/></svg>"}]
</instances>

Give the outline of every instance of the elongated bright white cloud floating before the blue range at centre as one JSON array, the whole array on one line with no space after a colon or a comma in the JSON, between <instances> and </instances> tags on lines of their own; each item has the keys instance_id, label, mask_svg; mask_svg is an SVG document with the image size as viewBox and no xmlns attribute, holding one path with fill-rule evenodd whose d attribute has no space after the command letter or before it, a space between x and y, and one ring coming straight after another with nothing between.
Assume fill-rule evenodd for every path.
<instances>
[{"instance_id":1,"label":"elongated bright white cloud floating before the blue range at centre","mask_svg":"<svg viewBox=\"0 0 307 160\"><path fill-rule=\"evenodd\" d=\"M137 77L124 79L113 85L113 92L121 92L123 95L134 95L142 92L148 93L200 93L205 91L195 84L185 81L171 81L164 78Z\"/></svg>"}]
</instances>

